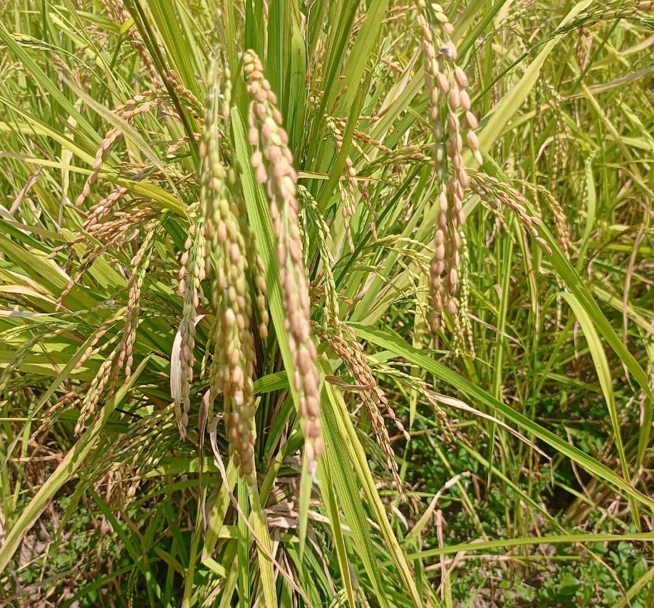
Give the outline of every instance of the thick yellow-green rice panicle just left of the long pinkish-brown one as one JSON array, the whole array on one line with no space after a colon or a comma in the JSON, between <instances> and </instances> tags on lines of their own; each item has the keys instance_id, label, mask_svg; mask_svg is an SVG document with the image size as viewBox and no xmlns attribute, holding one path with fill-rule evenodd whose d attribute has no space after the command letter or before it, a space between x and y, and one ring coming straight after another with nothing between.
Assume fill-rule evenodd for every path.
<instances>
[{"instance_id":1,"label":"thick yellow-green rice panicle just left of the long pinkish-brown one","mask_svg":"<svg viewBox=\"0 0 654 608\"><path fill-rule=\"evenodd\" d=\"M220 150L219 129L229 128L229 71L213 68L207 96L202 159L202 216L207 239L207 274L212 269L212 306L215 315L214 355L210 368L211 397L222 393L229 455L252 485L254 468L254 337L248 281L248 243L244 231L244 202L233 196L234 169L226 167Z\"/></svg>"}]
</instances>

